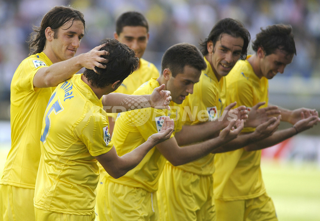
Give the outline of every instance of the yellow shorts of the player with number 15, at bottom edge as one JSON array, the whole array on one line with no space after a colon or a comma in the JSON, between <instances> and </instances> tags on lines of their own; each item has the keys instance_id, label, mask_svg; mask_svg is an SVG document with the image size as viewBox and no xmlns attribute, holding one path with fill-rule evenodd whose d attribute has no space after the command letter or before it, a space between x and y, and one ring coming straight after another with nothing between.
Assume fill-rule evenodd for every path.
<instances>
[{"instance_id":1,"label":"yellow shorts of the player with number 15, at bottom edge","mask_svg":"<svg viewBox=\"0 0 320 221\"><path fill-rule=\"evenodd\" d=\"M55 213L51 211L45 211L34 207L37 221L94 221L96 214L91 215L71 215L64 213Z\"/></svg>"}]
</instances>

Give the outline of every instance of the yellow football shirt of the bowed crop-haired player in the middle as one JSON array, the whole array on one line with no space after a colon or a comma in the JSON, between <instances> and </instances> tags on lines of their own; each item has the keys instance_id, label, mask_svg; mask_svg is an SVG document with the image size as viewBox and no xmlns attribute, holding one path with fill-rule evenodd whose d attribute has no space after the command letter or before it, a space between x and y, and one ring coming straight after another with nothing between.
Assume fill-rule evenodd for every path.
<instances>
[{"instance_id":1,"label":"yellow football shirt of the bowed crop-haired player in the middle","mask_svg":"<svg viewBox=\"0 0 320 221\"><path fill-rule=\"evenodd\" d=\"M159 83L156 78L150 79L141 85L133 94L151 94ZM171 101L171 110L159 110L144 108L122 112L114 127L112 140L119 156L122 156L140 144L144 143L149 136L157 133L162 126L165 116L174 119L174 131L181 130L181 104ZM158 180L164 168L166 159L156 147L152 148L137 167L130 170L124 176L114 179L108 174L107 178L114 183L138 187L148 192L155 192L158 189Z\"/></svg>"}]
</instances>

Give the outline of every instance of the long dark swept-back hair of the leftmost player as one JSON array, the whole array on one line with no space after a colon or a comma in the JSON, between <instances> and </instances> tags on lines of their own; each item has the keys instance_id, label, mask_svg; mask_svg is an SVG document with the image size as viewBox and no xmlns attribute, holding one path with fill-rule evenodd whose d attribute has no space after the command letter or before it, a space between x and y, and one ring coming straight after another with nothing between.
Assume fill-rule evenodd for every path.
<instances>
[{"instance_id":1,"label":"long dark swept-back hair of the leftmost player","mask_svg":"<svg viewBox=\"0 0 320 221\"><path fill-rule=\"evenodd\" d=\"M44 50L46 28L51 27L54 31L54 37L56 37L58 29L70 20L72 20L72 22L75 20L81 21L85 28L83 13L71 6L55 6L47 12L41 21L40 27L34 26L33 32L29 36L29 55L41 53Z\"/></svg>"}]
</instances>

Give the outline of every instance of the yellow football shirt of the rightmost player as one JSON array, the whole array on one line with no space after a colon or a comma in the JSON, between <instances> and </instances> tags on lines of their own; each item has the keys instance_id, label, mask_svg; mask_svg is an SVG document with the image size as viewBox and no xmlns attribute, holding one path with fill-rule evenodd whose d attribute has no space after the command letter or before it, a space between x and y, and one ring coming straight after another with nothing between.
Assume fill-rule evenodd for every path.
<instances>
[{"instance_id":1,"label":"yellow football shirt of the rightmost player","mask_svg":"<svg viewBox=\"0 0 320 221\"><path fill-rule=\"evenodd\" d=\"M249 56L247 57L249 58ZM250 63L237 61L227 75L227 102L237 102L249 110L258 102L268 105L268 79L258 78ZM250 132L254 128L244 128ZM265 192L260 170L261 151L243 148L215 155L214 196L219 200L244 200L258 197Z\"/></svg>"}]
</instances>

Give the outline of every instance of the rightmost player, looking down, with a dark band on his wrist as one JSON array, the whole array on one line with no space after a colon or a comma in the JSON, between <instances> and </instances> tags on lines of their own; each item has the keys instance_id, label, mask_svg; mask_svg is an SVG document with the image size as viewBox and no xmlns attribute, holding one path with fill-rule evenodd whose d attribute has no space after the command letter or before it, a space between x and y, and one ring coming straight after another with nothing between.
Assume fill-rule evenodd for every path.
<instances>
[{"instance_id":1,"label":"rightmost player, looking down, with a dark band on his wrist","mask_svg":"<svg viewBox=\"0 0 320 221\"><path fill-rule=\"evenodd\" d=\"M261 29L252 42L255 54L240 60L230 71L227 80L227 102L236 101L248 109L258 102L268 105L268 80L296 54L292 28L289 25L271 25ZM277 220L271 198L263 184L261 149L292 137L319 122L314 110L281 110L283 121L292 127L274 132L271 136L244 148L215 155L214 197L217 220ZM254 133L252 127L245 133Z\"/></svg>"}]
</instances>

